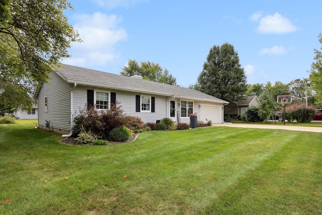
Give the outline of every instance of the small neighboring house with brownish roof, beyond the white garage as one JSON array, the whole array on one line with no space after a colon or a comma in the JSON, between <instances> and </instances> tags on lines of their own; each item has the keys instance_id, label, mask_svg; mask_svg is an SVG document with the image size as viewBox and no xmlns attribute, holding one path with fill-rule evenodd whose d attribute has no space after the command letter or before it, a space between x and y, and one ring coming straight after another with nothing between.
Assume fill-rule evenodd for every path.
<instances>
[{"instance_id":1,"label":"small neighboring house with brownish roof, beyond the white garage","mask_svg":"<svg viewBox=\"0 0 322 215\"><path fill-rule=\"evenodd\" d=\"M246 113L247 109L252 106L261 105L257 96L249 96L244 102L230 102L225 108L227 112L225 115L229 115L231 118L237 118L238 116Z\"/></svg>"}]
</instances>

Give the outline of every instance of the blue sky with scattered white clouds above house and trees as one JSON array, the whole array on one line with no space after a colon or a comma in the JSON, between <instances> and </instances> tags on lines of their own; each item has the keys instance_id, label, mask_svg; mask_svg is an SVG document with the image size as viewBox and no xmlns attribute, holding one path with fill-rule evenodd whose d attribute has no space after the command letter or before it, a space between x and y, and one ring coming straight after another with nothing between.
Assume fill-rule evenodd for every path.
<instances>
[{"instance_id":1,"label":"blue sky with scattered white clouds above house and trees","mask_svg":"<svg viewBox=\"0 0 322 215\"><path fill-rule=\"evenodd\" d=\"M322 33L322 1L69 0L83 43L63 63L119 74L129 59L195 84L214 45L230 43L249 84L308 78Z\"/></svg>"}]
</instances>

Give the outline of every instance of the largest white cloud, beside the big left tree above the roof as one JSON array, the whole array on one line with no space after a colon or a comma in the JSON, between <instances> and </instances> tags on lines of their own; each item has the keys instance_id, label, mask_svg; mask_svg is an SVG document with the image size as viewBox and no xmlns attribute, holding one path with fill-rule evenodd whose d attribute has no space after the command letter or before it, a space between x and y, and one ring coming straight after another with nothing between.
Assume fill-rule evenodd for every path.
<instances>
[{"instance_id":1,"label":"largest white cloud, beside the big left tree above the roof","mask_svg":"<svg viewBox=\"0 0 322 215\"><path fill-rule=\"evenodd\" d=\"M69 52L72 58L65 59L64 63L105 65L119 56L115 45L128 37L126 30L118 26L122 22L121 16L96 12L79 15L76 19L74 28L83 42L71 45Z\"/></svg>"}]
</instances>

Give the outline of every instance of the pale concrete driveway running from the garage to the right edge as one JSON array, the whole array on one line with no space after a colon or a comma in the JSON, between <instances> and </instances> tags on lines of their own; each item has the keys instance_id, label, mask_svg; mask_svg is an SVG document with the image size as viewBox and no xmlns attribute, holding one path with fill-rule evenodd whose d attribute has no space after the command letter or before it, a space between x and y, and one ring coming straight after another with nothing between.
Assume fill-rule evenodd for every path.
<instances>
[{"instance_id":1,"label":"pale concrete driveway running from the garage to the right edge","mask_svg":"<svg viewBox=\"0 0 322 215\"><path fill-rule=\"evenodd\" d=\"M283 129L283 130L298 130L309 132L322 132L322 127L307 127L307 126L288 126L288 125L258 125L258 124L232 124L232 123L218 123L212 126L226 126L239 128L266 128L266 129Z\"/></svg>"}]
</instances>

